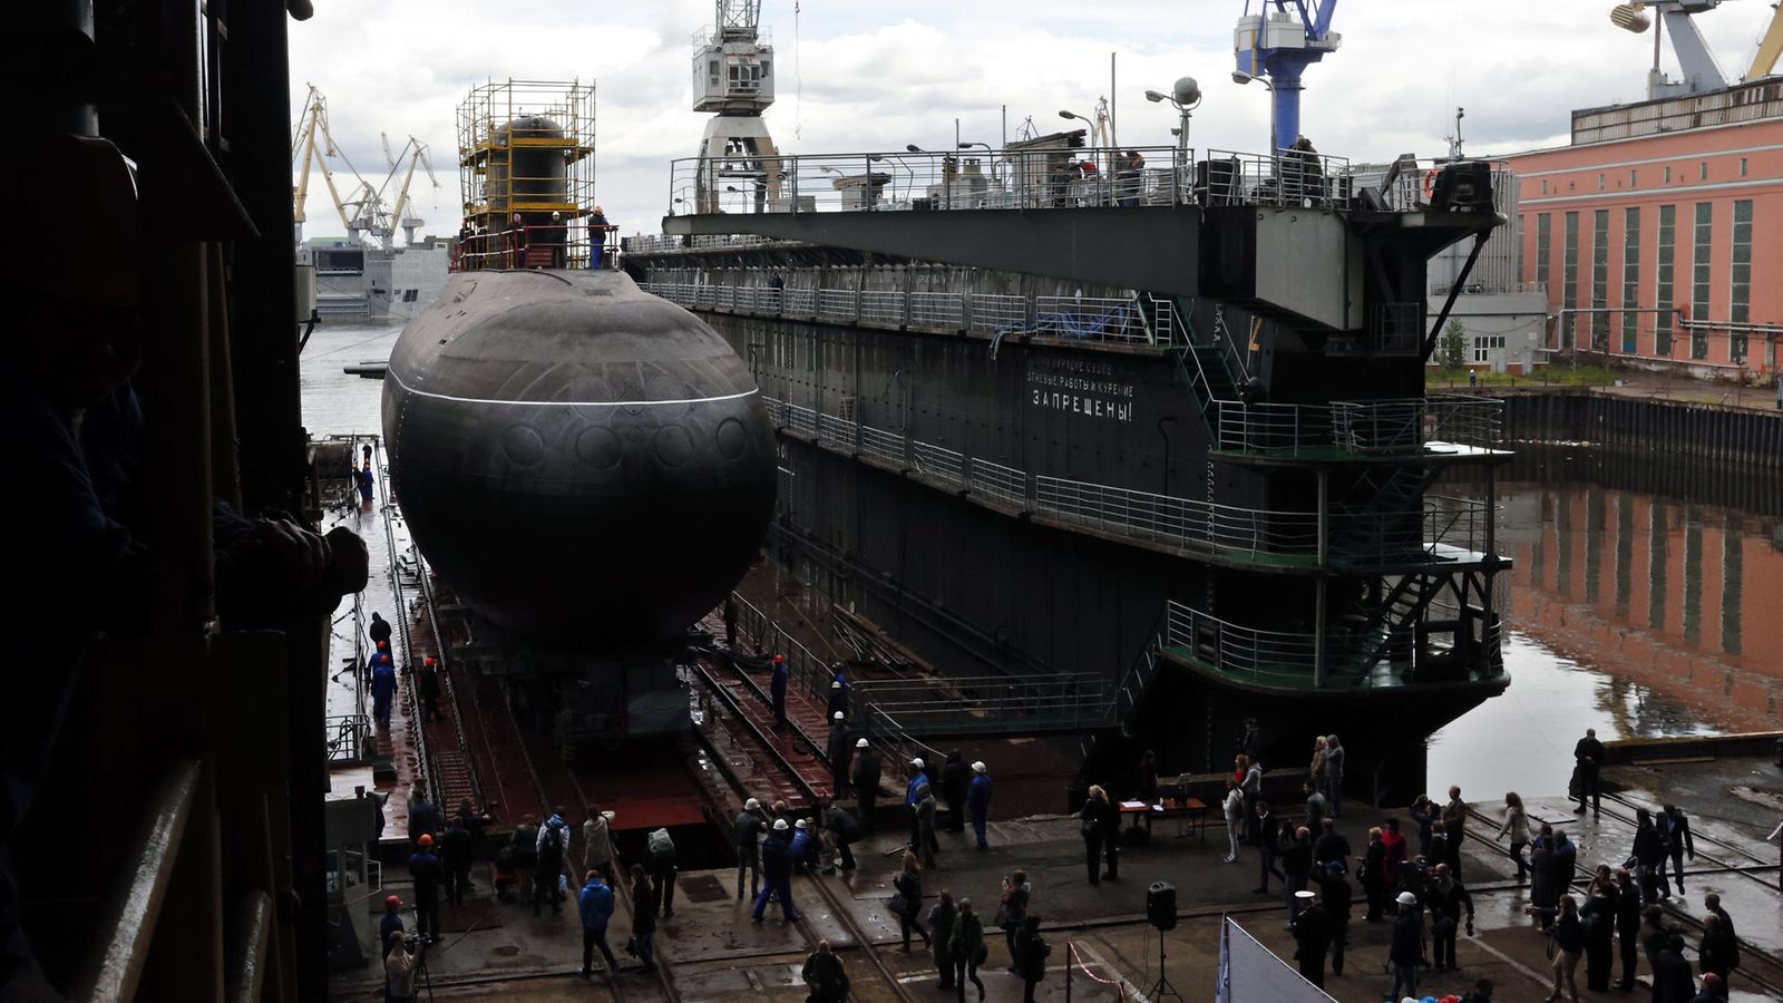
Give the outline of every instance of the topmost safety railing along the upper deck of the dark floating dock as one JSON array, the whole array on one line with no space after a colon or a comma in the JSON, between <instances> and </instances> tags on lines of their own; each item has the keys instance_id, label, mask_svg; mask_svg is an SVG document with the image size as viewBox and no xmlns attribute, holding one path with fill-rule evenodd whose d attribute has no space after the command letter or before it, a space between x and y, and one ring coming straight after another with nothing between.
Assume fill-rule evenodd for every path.
<instances>
[{"instance_id":1,"label":"topmost safety railing along the upper deck of the dark floating dock","mask_svg":"<svg viewBox=\"0 0 1783 1003\"><path fill-rule=\"evenodd\" d=\"M1129 209L1350 203L1346 157L1177 146L888 150L688 157L670 164L669 214Z\"/></svg>"}]
</instances>

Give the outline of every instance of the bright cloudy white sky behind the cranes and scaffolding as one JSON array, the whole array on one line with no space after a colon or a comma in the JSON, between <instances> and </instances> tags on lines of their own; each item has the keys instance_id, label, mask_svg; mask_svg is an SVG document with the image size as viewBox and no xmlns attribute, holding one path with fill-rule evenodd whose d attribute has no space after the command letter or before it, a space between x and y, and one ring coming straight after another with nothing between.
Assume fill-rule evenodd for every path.
<instances>
[{"instance_id":1,"label":"bright cloudy white sky behind the cranes and scaffolding","mask_svg":"<svg viewBox=\"0 0 1783 1003\"><path fill-rule=\"evenodd\" d=\"M1564 143L1571 109L1646 96L1653 32L1612 27L1610 5L1346 0L1334 18L1343 46L1305 75L1302 132L1355 161L1428 157L1446 150L1464 105L1469 153ZM957 118L961 139L995 146L1004 107L1011 136L1029 116L1052 132L1059 109L1093 114L1116 54L1123 146L1173 143L1175 112L1143 93L1193 75L1205 98L1191 145L1262 150L1268 93L1228 77L1243 12L1245 0L763 0L777 64L768 128L788 153L934 150L952 145ZM1728 0L1697 23L1737 77L1769 18L1763 0ZM594 80L599 198L622 232L649 234L669 202L669 161L692 155L704 128L692 37L711 21L701 0L316 0L316 16L291 25L292 121L316 84L335 141L373 184L385 171L380 132L428 143L442 187L417 178L412 198L424 230L446 234L458 228L453 112L467 89ZM1676 71L1669 52L1665 64ZM319 189L308 220L307 236L342 232Z\"/></svg>"}]
</instances>

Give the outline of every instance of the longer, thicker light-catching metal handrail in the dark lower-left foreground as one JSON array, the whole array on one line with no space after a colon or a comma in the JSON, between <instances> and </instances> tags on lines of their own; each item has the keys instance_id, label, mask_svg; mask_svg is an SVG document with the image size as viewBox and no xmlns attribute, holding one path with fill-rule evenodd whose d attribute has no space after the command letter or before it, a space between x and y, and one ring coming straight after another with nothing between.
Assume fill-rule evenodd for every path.
<instances>
[{"instance_id":1,"label":"longer, thicker light-catching metal handrail in the dark lower-left foreground","mask_svg":"<svg viewBox=\"0 0 1783 1003\"><path fill-rule=\"evenodd\" d=\"M112 885L100 907L96 957L75 999L130 1003L136 998L205 775L207 764L198 757L184 757L162 775L148 812L125 844L134 848L127 878Z\"/></svg>"}]
</instances>

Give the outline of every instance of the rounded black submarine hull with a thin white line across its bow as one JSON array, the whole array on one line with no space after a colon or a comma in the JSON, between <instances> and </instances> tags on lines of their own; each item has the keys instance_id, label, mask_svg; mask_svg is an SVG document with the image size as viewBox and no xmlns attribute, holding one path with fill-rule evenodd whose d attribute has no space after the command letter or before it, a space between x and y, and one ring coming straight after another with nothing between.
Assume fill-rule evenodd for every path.
<instances>
[{"instance_id":1,"label":"rounded black submarine hull with a thin white line across its bow","mask_svg":"<svg viewBox=\"0 0 1783 1003\"><path fill-rule=\"evenodd\" d=\"M747 368L620 271L453 275L396 343L383 434L433 569L547 646L681 634L774 505Z\"/></svg>"}]
</instances>

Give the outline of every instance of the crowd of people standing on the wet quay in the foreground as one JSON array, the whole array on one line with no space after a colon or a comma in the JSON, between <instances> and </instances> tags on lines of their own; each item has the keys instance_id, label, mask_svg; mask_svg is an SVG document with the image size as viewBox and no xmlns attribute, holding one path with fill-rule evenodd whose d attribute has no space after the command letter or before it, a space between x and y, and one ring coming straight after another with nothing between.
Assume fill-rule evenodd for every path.
<instances>
[{"instance_id":1,"label":"crowd of people standing on the wet quay in the foreground","mask_svg":"<svg viewBox=\"0 0 1783 1003\"><path fill-rule=\"evenodd\" d=\"M833 694L836 710L831 712L836 728L845 719L845 685L838 669ZM1234 769L1225 778L1225 860L1241 864L1255 853L1259 894L1277 894L1271 878L1278 882L1296 946L1294 960L1300 974L1314 985L1325 985L1327 967L1332 974L1343 974L1353 910L1364 908L1362 923L1391 924L1387 971L1393 976L1393 999L1417 998L1419 987L1432 980L1464 983L1444 999L1492 999L1491 980L1450 974L1462 969L1457 949L1462 933L1475 937L1475 896L1462 878L1464 867L1469 867L1466 837L1473 832L1473 867L1480 866L1483 846L1508 841L1501 851L1514 867L1516 882L1528 885L1524 912L1549 939L1553 982L1548 999L1580 998L1580 962L1587 991L1601 992L1612 985L1630 991L1642 958L1655 1003L1710 1003L1726 998L1728 978L1740 964L1740 951L1733 917L1722 908L1719 896L1703 896L1703 935L1694 966L1697 971L1692 971L1687 958L1683 933L1667 923L1667 912L1660 905L1672 899L1674 892L1683 894L1683 862L1694 858L1690 823L1676 805L1665 805L1653 816L1639 810L1628 839L1626 864L1599 864L1582 882L1576 878L1578 846L1564 828L1533 821L1516 792L1505 794L1496 830L1482 823L1485 816L1462 798L1458 787L1450 787L1441 801L1419 796L1407 808L1405 825L1398 816L1380 819L1380 825L1366 828L1357 850L1339 828L1344 748L1337 735L1319 735L1314 741L1303 776L1284 778L1280 771L1268 775L1269 791L1278 791L1284 780L1298 782L1300 803L1289 810L1271 807L1264 798L1266 773L1255 723L1246 728L1241 748L1245 751L1236 755ZM845 766L834 762L842 750L849 755ZM872 835L875 821L884 821L877 817L884 767L874 742L833 741L829 753L838 776L834 792L838 798L852 796L854 810L838 801L818 801L808 810L795 810L786 801L768 805L751 798L731 823L738 858L736 899L745 901L747 896L751 919L756 923L765 919L774 903L783 921L801 919L792 878L856 871L852 844ZM1587 735L1576 755L1578 773L1571 794L1578 800L1578 810L1585 812L1596 807L1599 796L1596 767L1603 750L1596 735ZM990 964L986 919L974 907L972 896L956 896L957 878L936 887L941 851L936 832L945 828L963 833L965 823L972 821L972 844L979 850L988 846L990 769L984 762L965 764L957 751L943 755L940 769L933 771L934 782L924 758L911 758L906 766L900 808L908 821L908 839L897 846L899 866L890 875L892 898L886 910L897 921L900 949L933 955L938 989L956 992L963 1001L970 983L982 1001L984 982L979 973ZM1154 753L1145 753L1136 776L1134 796L1145 805L1157 803L1161 792ZM1120 846L1129 833L1122 830L1118 801L1109 789L1089 787L1077 819L1088 883L1118 880ZM615 878L624 875L615 873L612 821L613 812L590 805L579 828L578 871L583 880L576 905L583 928L585 976L596 971L596 962L604 962L608 971L617 969L606 930L615 912ZM469 860L483 844L487 823L487 816L474 812L469 803L460 805L451 819L442 819L439 808L426 801L410 805L415 935L410 937L410 949L392 949L392 944L403 948L403 941L392 937L401 933L401 919L392 903L383 937L392 992L412 987L412 973L424 957L424 946L439 937L440 889L444 887L448 903L462 901L469 889ZM542 823L522 819L512 837L494 848L497 898L530 901L535 914L546 907L558 912L572 892L567 880L572 873L567 860L569 835L563 808L556 808ZM1601 826L1596 835L1603 844ZM645 858L629 867L633 923L624 946L638 958L640 971L654 969L651 941L658 919L674 916L674 844L667 830L658 830L645 841ZM1004 933L1007 971L1022 980L1023 999L1031 1003L1036 985L1047 974L1050 953L1041 917L1034 910L1034 883L1025 869L1011 869L998 882L995 896L990 928ZM847 967L827 941L811 951L802 974L811 999L840 1003L849 994Z\"/></svg>"}]
</instances>

